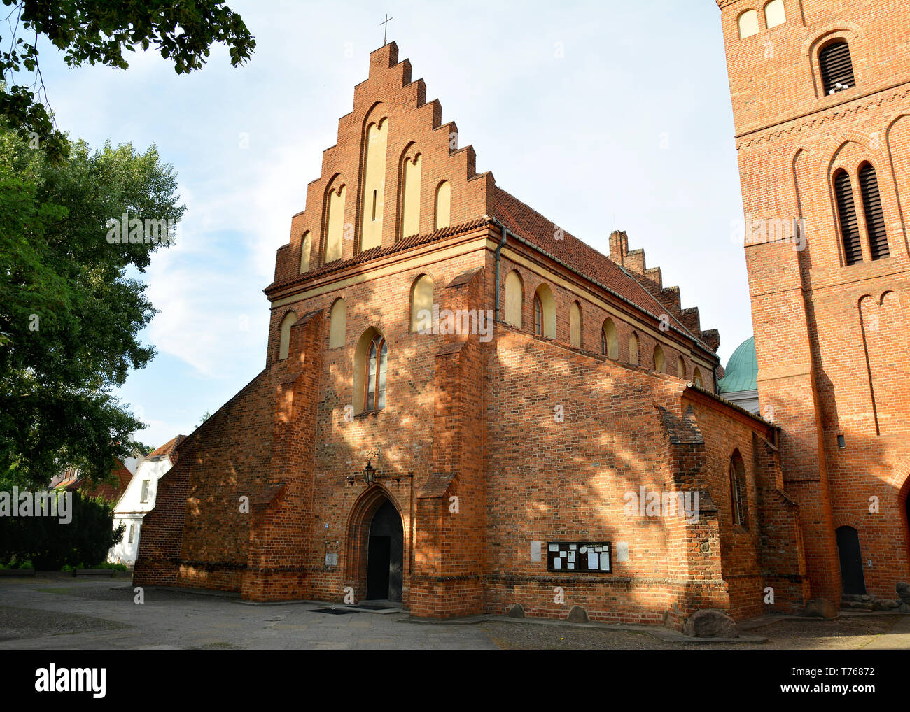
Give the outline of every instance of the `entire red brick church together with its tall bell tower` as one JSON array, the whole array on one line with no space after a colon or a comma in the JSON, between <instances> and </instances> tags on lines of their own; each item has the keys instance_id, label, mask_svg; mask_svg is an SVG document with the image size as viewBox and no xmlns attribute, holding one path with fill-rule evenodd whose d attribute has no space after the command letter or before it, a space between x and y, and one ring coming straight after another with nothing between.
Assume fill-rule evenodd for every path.
<instances>
[{"instance_id":1,"label":"entire red brick church together with its tall bell tower","mask_svg":"<svg viewBox=\"0 0 910 712\"><path fill-rule=\"evenodd\" d=\"M389 43L278 249L265 368L180 445L136 585L671 627L894 597L910 27L718 5L745 212L797 228L746 236L761 416L660 268L478 174Z\"/></svg>"}]
</instances>

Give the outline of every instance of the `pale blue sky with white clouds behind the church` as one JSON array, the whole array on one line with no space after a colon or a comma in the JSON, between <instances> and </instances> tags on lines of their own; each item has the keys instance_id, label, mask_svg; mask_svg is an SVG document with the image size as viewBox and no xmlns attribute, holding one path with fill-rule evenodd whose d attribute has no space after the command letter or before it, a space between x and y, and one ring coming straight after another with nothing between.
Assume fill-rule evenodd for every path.
<instances>
[{"instance_id":1,"label":"pale blue sky with white clouds behind the church","mask_svg":"<svg viewBox=\"0 0 910 712\"><path fill-rule=\"evenodd\" d=\"M143 277L160 313L142 338L157 357L118 394L147 423L143 442L188 434L264 366L275 250L387 11L399 58L474 146L479 172L605 254L612 229L626 230L682 306L720 329L724 363L752 335L713 0L227 5L257 41L240 69L223 46L193 75L151 52L126 71L71 69L39 44L60 127L92 146L157 145L187 205L177 246Z\"/></svg>"}]
</instances>

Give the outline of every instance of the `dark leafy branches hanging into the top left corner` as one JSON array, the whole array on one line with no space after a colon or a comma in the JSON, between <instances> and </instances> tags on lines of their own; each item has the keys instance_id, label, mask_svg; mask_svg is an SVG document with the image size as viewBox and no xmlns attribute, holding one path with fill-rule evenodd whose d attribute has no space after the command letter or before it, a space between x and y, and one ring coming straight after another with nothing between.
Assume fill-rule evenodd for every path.
<instances>
[{"instance_id":1,"label":"dark leafy branches hanging into the top left corner","mask_svg":"<svg viewBox=\"0 0 910 712\"><path fill-rule=\"evenodd\" d=\"M240 15L223 0L3 0L3 4L10 11L0 17L6 25L0 25L0 45L5 49L0 51L4 79L0 115L55 160L65 155L68 142L50 111L39 36L63 52L70 66L126 69L125 51L153 48L174 62L177 74L201 69L214 43L227 44L233 66L243 65L256 47Z\"/></svg>"}]
</instances>

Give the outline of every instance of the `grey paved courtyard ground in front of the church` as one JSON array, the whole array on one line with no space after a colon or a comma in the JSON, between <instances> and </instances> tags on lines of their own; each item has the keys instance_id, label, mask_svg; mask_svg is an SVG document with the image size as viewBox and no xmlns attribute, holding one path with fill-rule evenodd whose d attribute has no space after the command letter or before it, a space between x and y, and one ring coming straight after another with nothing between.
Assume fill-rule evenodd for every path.
<instances>
[{"instance_id":1,"label":"grey paved courtyard ground in front of the church","mask_svg":"<svg viewBox=\"0 0 910 712\"><path fill-rule=\"evenodd\" d=\"M670 631L487 619L439 625L401 614L314 612L327 604L252 606L236 597L147 588L128 577L0 579L0 649L910 649L910 616L767 619L763 642L696 644ZM339 607L340 608L340 607ZM756 625L764 624L764 625Z\"/></svg>"}]
</instances>

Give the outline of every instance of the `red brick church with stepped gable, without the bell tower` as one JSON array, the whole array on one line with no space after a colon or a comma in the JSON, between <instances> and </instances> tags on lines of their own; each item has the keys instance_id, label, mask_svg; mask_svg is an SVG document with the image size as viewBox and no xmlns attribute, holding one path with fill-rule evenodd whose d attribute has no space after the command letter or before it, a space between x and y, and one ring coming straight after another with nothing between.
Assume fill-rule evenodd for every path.
<instances>
[{"instance_id":1,"label":"red brick church with stepped gable, without the bell tower","mask_svg":"<svg viewBox=\"0 0 910 712\"><path fill-rule=\"evenodd\" d=\"M278 250L265 368L181 443L134 582L429 618L799 611L819 543L786 421L717 394L716 330L624 233L603 256L477 174L410 74L370 55Z\"/></svg>"}]
</instances>

